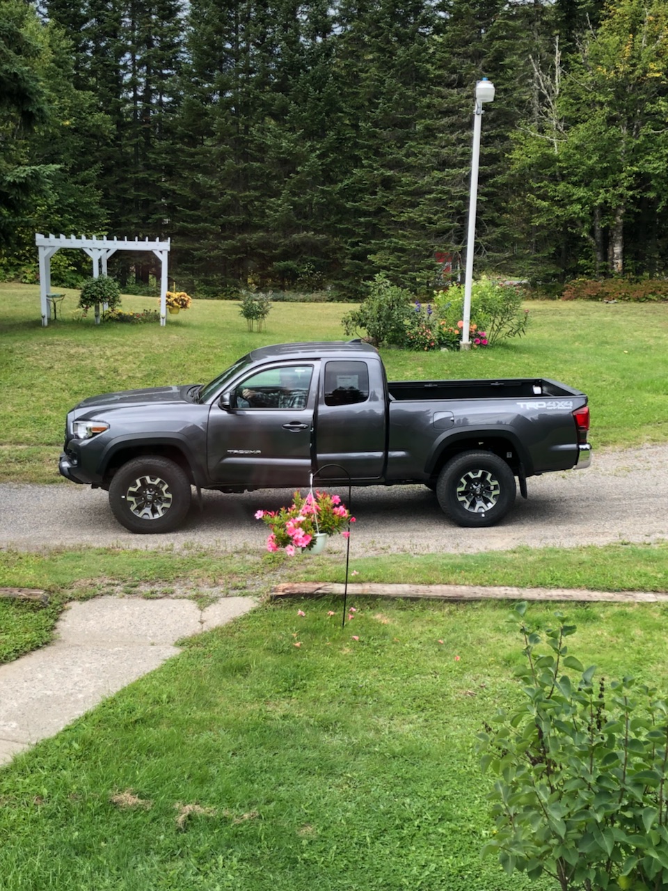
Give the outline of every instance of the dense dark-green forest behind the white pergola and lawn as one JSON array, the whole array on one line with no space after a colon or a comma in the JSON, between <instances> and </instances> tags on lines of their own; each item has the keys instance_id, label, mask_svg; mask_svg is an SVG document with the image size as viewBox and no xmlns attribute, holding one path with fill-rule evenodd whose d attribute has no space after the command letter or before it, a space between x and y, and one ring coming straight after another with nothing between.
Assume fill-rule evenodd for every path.
<instances>
[{"instance_id":1,"label":"dense dark-green forest behind the white pergola and lawn","mask_svg":"<svg viewBox=\"0 0 668 891\"><path fill-rule=\"evenodd\" d=\"M664 274L665 0L0 0L0 274L86 233L170 238L201 297L429 287L482 77L477 270ZM126 288L146 256L117 255Z\"/></svg>"}]
</instances>

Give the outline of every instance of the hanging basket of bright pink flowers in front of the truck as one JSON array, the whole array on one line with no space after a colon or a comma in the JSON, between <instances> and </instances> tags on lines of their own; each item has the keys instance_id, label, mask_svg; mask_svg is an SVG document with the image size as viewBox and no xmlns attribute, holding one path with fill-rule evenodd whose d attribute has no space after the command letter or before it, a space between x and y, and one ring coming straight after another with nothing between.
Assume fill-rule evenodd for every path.
<instances>
[{"instance_id":1,"label":"hanging basket of bright pink flowers in front of the truck","mask_svg":"<svg viewBox=\"0 0 668 891\"><path fill-rule=\"evenodd\" d=\"M327 537L340 533L350 535L348 526L354 523L346 505L338 495L326 492L295 492L289 507L280 511L257 511L256 519L262 519L271 529L266 541L267 551L285 551L292 557L297 551L322 551Z\"/></svg>"}]
</instances>

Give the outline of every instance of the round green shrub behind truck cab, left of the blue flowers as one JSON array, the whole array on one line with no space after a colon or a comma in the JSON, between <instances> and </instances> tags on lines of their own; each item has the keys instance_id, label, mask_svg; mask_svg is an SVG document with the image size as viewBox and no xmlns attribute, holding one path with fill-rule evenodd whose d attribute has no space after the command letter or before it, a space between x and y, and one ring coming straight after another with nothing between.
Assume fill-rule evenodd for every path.
<instances>
[{"instance_id":1,"label":"round green shrub behind truck cab, left of the blue flowers","mask_svg":"<svg viewBox=\"0 0 668 891\"><path fill-rule=\"evenodd\" d=\"M409 290L398 288L384 275L377 275L367 286L369 294L359 309L351 310L341 319L348 337L360 337L365 331L377 347L387 344L403 347L406 328L414 313L413 296Z\"/></svg>"}]
</instances>

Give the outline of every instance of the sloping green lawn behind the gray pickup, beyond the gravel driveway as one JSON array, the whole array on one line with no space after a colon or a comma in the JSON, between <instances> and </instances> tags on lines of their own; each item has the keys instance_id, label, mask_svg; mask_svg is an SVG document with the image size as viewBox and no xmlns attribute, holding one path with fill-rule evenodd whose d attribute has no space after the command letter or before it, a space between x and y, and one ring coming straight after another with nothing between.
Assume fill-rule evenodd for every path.
<instances>
[{"instance_id":1,"label":"sloping green lawn behind the gray pickup, beyond the gravel driveway","mask_svg":"<svg viewBox=\"0 0 668 891\"><path fill-rule=\"evenodd\" d=\"M213 378L248 349L290 340L341 339L350 307L277 303L266 331L248 332L230 301L193 301L167 325L95 326L77 320L67 291L57 322L42 328L38 289L0 286L0 480L61 480L65 414L85 396ZM155 298L124 297L129 310ZM584 302L527 304L523 339L468 353L383 350L392 380L536 376L590 396L591 442L637 446L668 440L668 306Z\"/></svg>"}]
</instances>

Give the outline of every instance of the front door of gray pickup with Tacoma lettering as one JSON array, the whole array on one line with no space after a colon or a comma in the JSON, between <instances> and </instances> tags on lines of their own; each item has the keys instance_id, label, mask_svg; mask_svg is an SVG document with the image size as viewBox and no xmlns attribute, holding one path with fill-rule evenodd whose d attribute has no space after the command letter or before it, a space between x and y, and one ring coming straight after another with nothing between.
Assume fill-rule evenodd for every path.
<instances>
[{"instance_id":1,"label":"front door of gray pickup with Tacoma lettering","mask_svg":"<svg viewBox=\"0 0 668 891\"><path fill-rule=\"evenodd\" d=\"M240 486L308 486L314 363L265 366L240 380L208 415L208 474Z\"/></svg>"}]
</instances>

